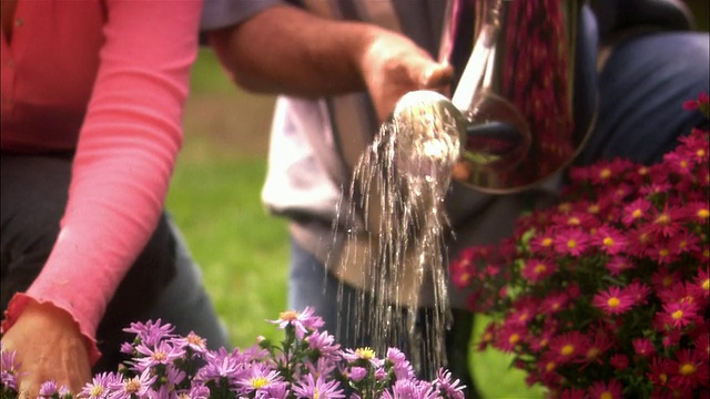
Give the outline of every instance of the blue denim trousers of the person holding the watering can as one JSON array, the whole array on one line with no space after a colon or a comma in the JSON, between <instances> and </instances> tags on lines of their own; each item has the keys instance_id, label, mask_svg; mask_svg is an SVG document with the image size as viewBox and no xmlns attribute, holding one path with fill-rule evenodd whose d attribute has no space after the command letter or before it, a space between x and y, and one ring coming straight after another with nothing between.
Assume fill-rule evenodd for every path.
<instances>
[{"instance_id":1,"label":"blue denim trousers of the person holding the watering can","mask_svg":"<svg viewBox=\"0 0 710 399\"><path fill-rule=\"evenodd\" d=\"M577 164L616 156L656 163L680 135L703 125L704 116L697 111L683 111L682 104L709 91L708 57L707 33L657 32L615 45L597 76L597 121ZM366 294L342 285L322 262L293 239L290 263L290 308L313 307L324 318L324 329L335 334L345 347L367 345L367 337L354 339L358 320L352 314L357 298ZM432 311L419 309L419 328L426 329L427 314ZM474 385L467 370L466 348L473 323L470 314L457 310L446 336L449 369L469 387ZM475 388L468 397L476 397Z\"/></svg>"}]
</instances>

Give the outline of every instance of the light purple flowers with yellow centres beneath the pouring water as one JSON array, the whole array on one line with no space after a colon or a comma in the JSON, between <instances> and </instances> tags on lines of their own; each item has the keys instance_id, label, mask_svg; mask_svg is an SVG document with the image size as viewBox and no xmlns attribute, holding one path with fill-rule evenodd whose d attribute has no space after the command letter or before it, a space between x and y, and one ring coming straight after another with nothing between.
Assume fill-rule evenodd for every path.
<instances>
[{"instance_id":1,"label":"light purple flowers with yellow centres beneath the pouring water","mask_svg":"<svg viewBox=\"0 0 710 399\"><path fill-rule=\"evenodd\" d=\"M260 339L246 350L209 350L203 338L173 334L161 320L132 324L135 334L121 350L131 360L116 372L95 375L81 392L54 381L39 398L464 398L464 386L440 369L433 381L419 380L396 348L378 358L369 348L341 350L334 337L318 331L323 320L311 308L284 311L272 320L284 330L281 342ZM21 365L2 351L2 398L17 398Z\"/></svg>"}]
</instances>

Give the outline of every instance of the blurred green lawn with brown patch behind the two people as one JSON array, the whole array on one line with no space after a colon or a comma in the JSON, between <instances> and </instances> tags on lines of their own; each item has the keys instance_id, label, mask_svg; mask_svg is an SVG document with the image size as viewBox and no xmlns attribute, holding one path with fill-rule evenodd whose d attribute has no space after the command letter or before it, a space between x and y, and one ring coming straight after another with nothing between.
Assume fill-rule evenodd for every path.
<instances>
[{"instance_id":1,"label":"blurred green lawn with brown patch behind the two people","mask_svg":"<svg viewBox=\"0 0 710 399\"><path fill-rule=\"evenodd\" d=\"M232 344L251 346L260 335L278 339L264 320L286 309L288 235L260 198L273 99L236 90L206 51L192 85L168 208L202 267ZM484 326L481 318L476 335ZM541 398L509 364L495 351L475 354L474 376L485 397Z\"/></svg>"}]
</instances>

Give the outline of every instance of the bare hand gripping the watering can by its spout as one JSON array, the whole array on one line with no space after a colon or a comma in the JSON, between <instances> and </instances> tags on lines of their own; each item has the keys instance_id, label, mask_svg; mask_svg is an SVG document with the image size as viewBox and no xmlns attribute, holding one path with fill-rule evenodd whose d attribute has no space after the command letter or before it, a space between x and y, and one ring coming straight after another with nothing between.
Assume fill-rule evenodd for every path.
<instances>
[{"instance_id":1,"label":"bare hand gripping the watering can by its spout","mask_svg":"<svg viewBox=\"0 0 710 399\"><path fill-rule=\"evenodd\" d=\"M434 90L449 94L454 69L436 62L424 49L398 33L377 29L359 62L381 122L410 91Z\"/></svg>"}]
</instances>

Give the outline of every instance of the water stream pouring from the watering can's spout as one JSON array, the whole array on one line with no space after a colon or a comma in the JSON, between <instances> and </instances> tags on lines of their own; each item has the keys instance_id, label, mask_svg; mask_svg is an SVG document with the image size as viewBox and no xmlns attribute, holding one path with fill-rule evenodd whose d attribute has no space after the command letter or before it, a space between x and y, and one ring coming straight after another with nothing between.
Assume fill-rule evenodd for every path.
<instances>
[{"instance_id":1,"label":"water stream pouring from the watering can's spout","mask_svg":"<svg viewBox=\"0 0 710 399\"><path fill-rule=\"evenodd\" d=\"M348 232L341 268L365 288L351 309L356 334L369 336L379 356L408 348L415 368L436 370L446 365L450 320L444 197L459 140L447 114L416 111L384 124L354 168L339 221ZM418 306L433 311L422 319ZM424 334L417 324L426 325Z\"/></svg>"}]
</instances>

